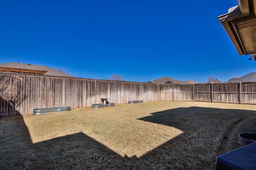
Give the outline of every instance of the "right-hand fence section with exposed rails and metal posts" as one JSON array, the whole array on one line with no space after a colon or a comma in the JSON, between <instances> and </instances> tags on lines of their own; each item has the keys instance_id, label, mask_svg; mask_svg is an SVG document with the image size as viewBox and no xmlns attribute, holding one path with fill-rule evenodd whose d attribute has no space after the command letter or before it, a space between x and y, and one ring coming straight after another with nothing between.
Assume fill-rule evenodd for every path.
<instances>
[{"instance_id":1,"label":"right-hand fence section with exposed rails and metal posts","mask_svg":"<svg viewBox=\"0 0 256 170\"><path fill-rule=\"evenodd\" d=\"M158 85L157 100L256 104L256 83Z\"/></svg>"}]
</instances>

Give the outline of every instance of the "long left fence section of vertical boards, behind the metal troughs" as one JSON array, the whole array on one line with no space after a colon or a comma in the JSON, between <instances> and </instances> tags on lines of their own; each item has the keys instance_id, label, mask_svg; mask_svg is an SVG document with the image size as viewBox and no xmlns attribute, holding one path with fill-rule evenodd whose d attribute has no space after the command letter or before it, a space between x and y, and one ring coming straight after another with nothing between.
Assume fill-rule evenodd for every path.
<instances>
[{"instance_id":1,"label":"long left fence section of vertical boards, behind the metal troughs","mask_svg":"<svg viewBox=\"0 0 256 170\"><path fill-rule=\"evenodd\" d=\"M1 75L0 83L6 84L8 80L11 88L8 89L10 98L0 98L0 117L32 114L33 109L38 108L91 107L102 103L101 98L106 97L115 104L156 101L156 84L15 73Z\"/></svg>"}]
</instances>

